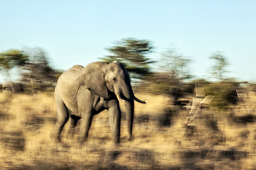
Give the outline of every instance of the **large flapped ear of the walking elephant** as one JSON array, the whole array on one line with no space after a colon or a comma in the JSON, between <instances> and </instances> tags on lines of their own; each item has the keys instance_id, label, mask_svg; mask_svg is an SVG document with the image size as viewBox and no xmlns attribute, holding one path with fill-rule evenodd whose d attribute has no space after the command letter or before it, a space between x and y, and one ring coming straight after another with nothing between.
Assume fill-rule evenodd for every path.
<instances>
[{"instance_id":1,"label":"large flapped ear of the walking elephant","mask_svg":"<svg viewBox=\"0 0 256 170\"><path fill-rule=\"evenodd\" d=\"M93 93L107 98L107 86L104 79L104 72L102 68L105 67L105 63L94 62L87 65L82 72L82 83L87 89Z\"/></svg>"}]
</instances>

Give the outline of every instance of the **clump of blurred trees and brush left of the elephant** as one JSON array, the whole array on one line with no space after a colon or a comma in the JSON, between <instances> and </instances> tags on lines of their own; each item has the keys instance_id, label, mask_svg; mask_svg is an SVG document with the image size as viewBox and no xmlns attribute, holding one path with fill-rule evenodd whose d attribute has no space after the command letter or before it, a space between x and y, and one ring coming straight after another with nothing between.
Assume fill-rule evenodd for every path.
<instances>
[{"instance_id":1,"label":"clump of blurred trees and brush left of the elephant","mask_svg":"<svg viewBox=\"0 0 256 170\"><path fill-rule=\"evenodd\" d=\"M11 70L18 67L19 81L11 81ZM53 91L61 71L53 69L41 48L25 50L8 50L0 53L1 74L9 79L2 84L3 91L35 93L37 91ZM15 77L17 79L17 75Z\"/></svg>"}]
</instances>

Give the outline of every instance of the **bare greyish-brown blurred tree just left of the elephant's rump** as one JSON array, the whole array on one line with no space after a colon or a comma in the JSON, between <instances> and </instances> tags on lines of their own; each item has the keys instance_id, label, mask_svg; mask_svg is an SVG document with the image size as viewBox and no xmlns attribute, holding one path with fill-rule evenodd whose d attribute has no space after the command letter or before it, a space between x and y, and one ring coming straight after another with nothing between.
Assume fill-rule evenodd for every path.
<instances>
[{"instance_id":1,"label":"bare greyish-brown blurred tree just left of the elephant's rump","mask_svg":"<svg viewBox=\"0 0 256 170\"><path fill-rule=\"evenodd\" d=\"M28 63L23 67L24 72L21 74L21 81L28 81L31 85L31 92L35 88L44 85L52 85L58 79L58 71L55 71L48 62L46 52L41 48L26 49Z\"/></svg>"}]
</instances>

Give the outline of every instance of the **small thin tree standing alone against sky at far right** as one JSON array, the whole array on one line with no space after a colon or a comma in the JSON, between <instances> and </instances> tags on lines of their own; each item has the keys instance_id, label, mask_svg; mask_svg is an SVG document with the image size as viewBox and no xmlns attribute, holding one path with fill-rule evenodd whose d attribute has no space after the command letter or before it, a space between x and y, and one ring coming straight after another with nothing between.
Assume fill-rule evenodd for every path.
<instances>
[{"instance_id":1,"label":"small thin tree standing alone against sky at far right","mask_svg":"<svg viewBox=\"0 0 256 170\"><path fill-rule=\"evenodd\" d=\"M223 55L223 52L213 52L210 55L210 60L213 60L213 65L211 66L210 73L213 74L213 77L223 80L223 74L227 72L225 67L228 65L226 57Z\"/></svg>"}]
</instances>

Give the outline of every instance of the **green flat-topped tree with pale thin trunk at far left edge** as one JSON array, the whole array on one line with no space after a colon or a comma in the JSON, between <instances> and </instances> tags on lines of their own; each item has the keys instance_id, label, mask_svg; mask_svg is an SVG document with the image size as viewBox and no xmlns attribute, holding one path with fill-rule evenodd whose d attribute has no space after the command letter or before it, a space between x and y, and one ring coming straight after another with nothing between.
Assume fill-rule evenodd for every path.
<instances>
[{"instance_id":1,"label":"green flat-topped tree with pale thin trunk at far left edge","mask_svg":"<svg viewBox=\"0 0 256 170\"><path fill-rule=\"evenodd\" d=\"M5 77L9 79L11 90L14 91L14 86L11 82L11 69L14 67L21 67L28 62L28 55L21 50L8 50L0 53L0 68L4 72Z\"/></svg>"}]
</instances>

